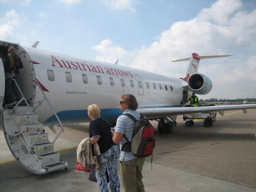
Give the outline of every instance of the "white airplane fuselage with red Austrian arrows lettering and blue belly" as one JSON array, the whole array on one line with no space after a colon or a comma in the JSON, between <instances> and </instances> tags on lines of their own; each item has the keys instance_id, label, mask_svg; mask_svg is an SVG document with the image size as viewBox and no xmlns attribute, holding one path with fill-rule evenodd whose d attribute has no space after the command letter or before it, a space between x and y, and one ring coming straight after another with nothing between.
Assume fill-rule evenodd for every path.
<instances>
[{"instance_id":1,"label":"white airplane fuselage with red Austrian arrows lettering and blue belly","mask_svg":"<svg viewBox=\"0 0 256 192\"><path fill-rule=\"evenodd\" d=\"M2 52L6 42L0 41ZM95 103L101 117L115 122L121 113L122 94L133 94L139 107L182 106L186 81L124 65L99 62L64 54L14 45L24 65L19 83L27 100L43 100L36 80L63 124L89 121L87 106ZM3 71L1 72L3 75ZM44 124L55 124L56 118L46 103L36 108Z\"/></svg>"}]
</instances>

